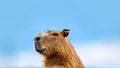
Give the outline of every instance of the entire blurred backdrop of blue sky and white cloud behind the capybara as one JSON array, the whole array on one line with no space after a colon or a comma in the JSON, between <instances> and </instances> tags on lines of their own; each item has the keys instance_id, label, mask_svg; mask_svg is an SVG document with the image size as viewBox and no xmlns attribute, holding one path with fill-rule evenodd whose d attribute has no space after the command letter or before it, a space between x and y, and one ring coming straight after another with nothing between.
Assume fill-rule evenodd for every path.
<instances>
[{"instance_id":1,"label":"entire blurred backdrop of blue sky and white cloud behind the capybara","mask_svg":"<svg viewBox=\"0 0 120 68\"><path fill-rule=\"evenodd\" d=\"M64 28L86 67L120 67L119 0L0 0L0 67L42 67L35 34Z\"/></svg>"}]
</instances>

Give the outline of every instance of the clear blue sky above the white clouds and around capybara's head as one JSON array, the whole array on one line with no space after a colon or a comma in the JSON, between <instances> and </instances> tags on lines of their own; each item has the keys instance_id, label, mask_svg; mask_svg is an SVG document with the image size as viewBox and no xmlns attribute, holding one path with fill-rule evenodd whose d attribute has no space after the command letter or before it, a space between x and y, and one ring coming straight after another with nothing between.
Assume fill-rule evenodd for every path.
<instances>
[{"instance_id":1,"label":"clear blue sky above the white clouds and around capybara's head","mask_svg":"<svg viewBox=\"0 0 120 68\"><path fill-rule=\"evenodd\" d=\"M64 28L71 30L69 38L72 43L101 40L107 43L114 42L119 47L120 1L0 1L0 55L3 57L19 57L21 52L32 52L36 33ZM90 45L82 47L87 46Z\"/></svg>"}]
</instances>

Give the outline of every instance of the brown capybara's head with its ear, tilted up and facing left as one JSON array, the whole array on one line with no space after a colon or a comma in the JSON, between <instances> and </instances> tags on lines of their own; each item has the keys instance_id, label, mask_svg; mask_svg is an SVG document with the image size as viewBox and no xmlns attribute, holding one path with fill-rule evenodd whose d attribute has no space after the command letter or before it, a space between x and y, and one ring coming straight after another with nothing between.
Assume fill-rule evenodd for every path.
<instances>
[{"instance_id":1,"label":"brown capybara's head with its ear, tilted up and facing left","mask_svg":"<svg viewBox=\"0 0 120 68\"><path fill-rule=\"evenodd\" d=\"M67 36L69 35L69 29L48 30L44 33L36 34L34 38L35 49L37 52L44 56L55 55L56 53L66 53L68 50L69 41Z\"/></svg>"}]
</instances>

